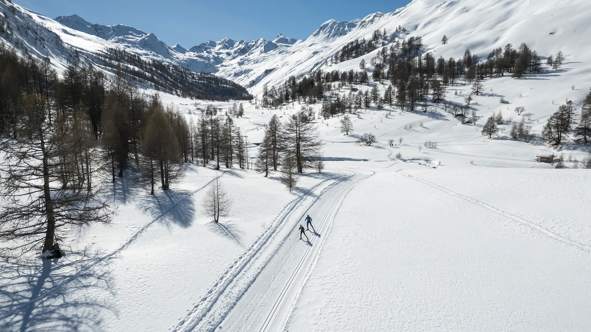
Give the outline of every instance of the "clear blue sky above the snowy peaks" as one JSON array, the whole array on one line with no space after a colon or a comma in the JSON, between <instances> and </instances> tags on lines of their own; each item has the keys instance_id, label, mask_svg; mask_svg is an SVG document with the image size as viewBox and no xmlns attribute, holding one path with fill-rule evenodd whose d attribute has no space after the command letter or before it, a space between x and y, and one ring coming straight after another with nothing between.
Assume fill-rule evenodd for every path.
<instances>
[{"instance_id":1,"label":"clear blue sky above the snowy peaks","mask_svg":"<svg viewBox=\"0 0 591 332\"><path fill-rule=\"evenodd\" d=\"M13 0L50 18L78 14L92 23L125 24L183 47L220 40L305 39L331 18L348 21L392 12L410 0Z\"/></svg>"}]
</instances>

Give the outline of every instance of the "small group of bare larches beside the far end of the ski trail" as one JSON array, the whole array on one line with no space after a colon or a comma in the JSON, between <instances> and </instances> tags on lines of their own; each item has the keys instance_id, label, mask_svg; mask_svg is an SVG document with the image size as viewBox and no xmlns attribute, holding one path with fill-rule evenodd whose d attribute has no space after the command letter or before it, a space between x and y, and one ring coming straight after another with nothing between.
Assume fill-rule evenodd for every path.
<instances>
[{"instance_id":1,"label":"small group of bare larches beside the far end of the ski trail","mask_svg":"<svg viewBox=\"0 0 591 332\"><path fill-rule=\"evenodd\" d=\"M259 145L255 170L267 177L269 172L281 168L282 181L291 191L298 174L304 170L323 170L322 145L316 126L306 112L290 116L284 124L273 115Z\"/></svg>"}]
</instances>

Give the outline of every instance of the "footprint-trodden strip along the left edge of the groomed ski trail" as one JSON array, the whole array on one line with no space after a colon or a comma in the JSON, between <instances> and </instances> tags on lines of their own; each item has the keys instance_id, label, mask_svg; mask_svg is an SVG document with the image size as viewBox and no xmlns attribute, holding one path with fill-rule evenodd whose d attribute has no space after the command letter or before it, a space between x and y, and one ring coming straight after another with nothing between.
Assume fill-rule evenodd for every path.
<instances>
[{"instance_id":1,"label":"footprint-trodden strip along the left edge of the groomed ski trail","mask_svg":"<svg viewBox=\"0 0 591 332\"><path fill-rule=\"evenodd\" d=\"M345 180L348 180L353 175L355 175L355 173L343 175L343 177L339 178L334 183L328 185L326 188L322 190L319 196L314 198L314 201L310 204L310 206L313 206L313 204L316 203L316 201L319 200L322 194L325 191L329 190L329 188L332 188L335 185L342 183ZM332 179L323 180L319 184L314 185L314 187L310 188L309 193L311 193L314 189L320 187L321 185L325 184L327 181L330 180ZM245 271L245 269L250 268L250 266L248 266L249 262L251 262L256 257L256 255L261 251L262 248L264 248L265 244L267 244L271 237L275 234L275 232L277 232L278 227L282 224L282 222L285 219L287 219L288 216L290 216L290 213L293 210L295 210L296 207L301 203L301 201L303 201L306 197L308 196L303 195L294 198L294 200L291 200L290 202L285 204L283 209L271 223L272 226L265 230L264 233L259 235L259 237L252 243L252 245L249 246L249 248L246 249L238 257L238 259L236 259L236 261L234 261L232 265L229 266L226 272L224 272L224 274L220 276L215 285L213 285L213 287L207 292L207 295L205 295L199 301L199 303L194 305L193 309L186 315L186 317L183 320L181 320L176 327L174 327L173 332L189 332L193 331L198 326L198 324L203 320L203 318L206 317L206 315L212 310L213 306L216 304L217 300L219 300L222 294L226 291L226 289L228 289L232 285L232 282L235 280L235 278L242 274L242 272ZM287 236L285 238L287 238ZM282 241L284 241L285 238ZM267 260L264 263L262 263L261 266L258 267L258 271L255 271L254 275L252 275L251 278L248 280L248 287L246 287L241 292L239 292L239 294L236 295L235 301L233 302L234 305L236 304L236 302L238 302L238 300L240 300L240 298L242 298L242 295L245 294L249 286L252 285L252 283L255 281L256 277L259 274L261 274L264 267L267 265L267 263L271 260L271 258L275 255L276 252L277 248L271 253L271 255L269 255ZM230 311L232 311L234 305L229 307L228 310L226 310L226 312L222 315L222 319L215 323L216 327L219 326L219 324L222 323L223 318L225 318L230 313ZM215 330L215 327L211 330Z\"/></svg>"}]
</instances>

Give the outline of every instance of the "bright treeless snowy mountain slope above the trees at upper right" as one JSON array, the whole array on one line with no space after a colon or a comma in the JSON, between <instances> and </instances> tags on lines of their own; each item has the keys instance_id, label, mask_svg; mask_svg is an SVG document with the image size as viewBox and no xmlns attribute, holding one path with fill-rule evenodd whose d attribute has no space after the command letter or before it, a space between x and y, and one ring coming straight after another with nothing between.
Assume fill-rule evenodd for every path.
<instances>
[{"instance_id":1,"label":"bright treeless snowy mountain slope above the trees at upper right","mask_svg":"<svg viewBox=\"0 0 591 332\"><path fill-rule=\"evenodd\" d=\"M277 68L251 89L254 93L260 91L261 84L279 84L292 74L298 76L316 69L358 69L361 59L335 66L327 61L342 45L358 38L369 40L374 30L385 29L391 34L399 25L408 30L408 35L423 37L424 50L431 51L436 58L457 58L466 49L483 58L493 48L507 43L515 47L527 43L541 56L563 51L571 61L591 63L591 51L586 47L591 43L590 12L591 2L582 0L414 0L398 11L368 15L360 21L328 21L288 53L277 57L269 54L257 63L243 63L242 67L253 69L246 75L248 78ZM449 44L441 45L443 35L449 37ZM375 54L367 55L366 60L372 56ZM220 74L227 70L228 67L220 69ZM236 82L246 84L246 76Z\"/></svg>"}]
</instances>

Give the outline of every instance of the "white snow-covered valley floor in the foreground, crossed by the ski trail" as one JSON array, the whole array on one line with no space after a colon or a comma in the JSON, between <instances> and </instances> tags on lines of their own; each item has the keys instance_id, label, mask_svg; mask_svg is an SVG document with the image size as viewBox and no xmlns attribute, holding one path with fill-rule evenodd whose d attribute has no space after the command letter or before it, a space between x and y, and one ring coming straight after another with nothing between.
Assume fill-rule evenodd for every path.
<instances>
[{"instance_id":1,"label":"white snow-covered valley floor in the foreground, crossed by the ski trail","mask_svg":"<svg viewBox=\"0 0 591 332\"><path fill-rule=\"evenodd\" d=\"M163 99L194 116L189 101ZM238 124L259 142L272 113L293 111L246 105ZM543 145L484 139L453 118L385 112L355 118L356 132L386 134L375 147L340 134L337 118L318 121L337 161L293 194L277 178L202 167L156 197L116 184L115 223L71 243L101 253L53 263L33 294L40 266L6 267L1 329L25 320L35 331L587 330L588 170L538 164ZM439 147L419 151L431 128ZM460 137L443 144L448 136ZM200 209L216 176L235 198L225 229ZM297 233L306 214L310 244Z\"/></svg>"}]
</instances>

